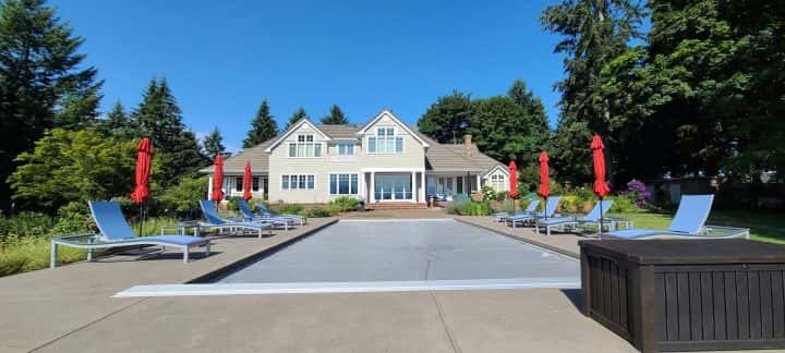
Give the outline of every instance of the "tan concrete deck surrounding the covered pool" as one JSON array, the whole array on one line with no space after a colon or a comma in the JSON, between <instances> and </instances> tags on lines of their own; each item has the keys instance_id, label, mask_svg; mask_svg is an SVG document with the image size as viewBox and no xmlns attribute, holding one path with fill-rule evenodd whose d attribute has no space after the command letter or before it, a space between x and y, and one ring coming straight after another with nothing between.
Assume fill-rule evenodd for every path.
<instances>
[{"instance_id":1,"label":"tan concrete deck surrounding the covered pool","mask_svg":"<svg viewBox=\"0 0 785 353\"><path fill-rule=\"evenodd\" d=\"M194 252L188 265L176 253L114 256L0 278L0 352L636 352L580 314L577 290L111 297L135 284L192 281L335 221L218 239L213 256ZM511 236L541 241L528 229ZM567 241L577 236L552 238L577 248Z\"/></svg>"}]
</instances>

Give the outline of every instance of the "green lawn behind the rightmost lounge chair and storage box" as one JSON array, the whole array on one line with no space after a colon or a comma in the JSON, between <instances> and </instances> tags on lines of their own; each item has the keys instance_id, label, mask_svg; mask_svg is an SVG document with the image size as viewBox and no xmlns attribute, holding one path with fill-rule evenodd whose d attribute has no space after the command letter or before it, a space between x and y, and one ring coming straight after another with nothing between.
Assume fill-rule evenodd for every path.
<instances>
[{"instance_id":1,"label":"green lawn behind the rightmost lounge chair and storage box","mask_svg":"<svg viewBox=\"0 0 785 353\"><path fill-rule=\"evenodd\" d=\"M611 216L628 218L636 228L651 229L667 229L673 218L672 215L651 212ZM712 210L706 224L749 228L751 239L785 244L785 217L775 212Z\"/></svg>"}]
</instances>

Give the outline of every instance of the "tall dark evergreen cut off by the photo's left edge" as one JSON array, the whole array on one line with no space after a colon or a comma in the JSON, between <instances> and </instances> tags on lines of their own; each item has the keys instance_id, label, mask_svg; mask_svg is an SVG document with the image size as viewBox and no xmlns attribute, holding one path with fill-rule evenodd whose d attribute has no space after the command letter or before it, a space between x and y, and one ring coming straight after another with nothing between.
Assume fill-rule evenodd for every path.
<instances>
[{"instance_id":1,"label":"tall dark evergreen cut off by the photo's left edge","mask_svg":"<svg viewBox=\"0 0 785 353\"><path fill-rule=\"evenodd\" d=\"M0 2L0 208L9 205L13 158L55 125L58 105L81 110L67 97L99 97L97 71L77 52L83 41L43 0Z\"/></svg>"}]
</instances>

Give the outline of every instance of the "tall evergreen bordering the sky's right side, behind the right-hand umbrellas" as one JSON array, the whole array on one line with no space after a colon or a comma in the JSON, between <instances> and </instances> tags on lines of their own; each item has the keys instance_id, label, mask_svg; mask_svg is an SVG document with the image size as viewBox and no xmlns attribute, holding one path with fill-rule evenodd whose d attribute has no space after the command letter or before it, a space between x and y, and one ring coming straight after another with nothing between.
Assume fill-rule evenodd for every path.
<instances>
[{"instance_id":1,"label":"tall evergreen bordering the sky's right side, behind the right-hand umbrellas","mask_svg":"<svg viewBox=\"0 0 785 353\"><path fill-rule=\"evenodd\" d=\"M600 96L602 69L614 58L627 50L627 42L641 38L638 27L644 15L638 2L631 0L563 0L543 11L540 21L545 31L564 37L555 51L566 54L567 77L556 84L561 93L557 137L569 132L576 138L554 144L555 165L569 166L571 172L563 176L582 183L591 179L591 150L584 136L600 133L607 136L609 131L611 104ZM580 131L584 129L585 131ZM563 134L565 133L565 134ZM613 137L613 135L608 136ZM617 142L606 141L606 146ZM558 156L579 154L570 160L558 160ZM609 150L607 155L613 159ZM613 161L612 161L613 163ZM611 175L613 176L613 175Z\"/></svg>"}]
</instances>

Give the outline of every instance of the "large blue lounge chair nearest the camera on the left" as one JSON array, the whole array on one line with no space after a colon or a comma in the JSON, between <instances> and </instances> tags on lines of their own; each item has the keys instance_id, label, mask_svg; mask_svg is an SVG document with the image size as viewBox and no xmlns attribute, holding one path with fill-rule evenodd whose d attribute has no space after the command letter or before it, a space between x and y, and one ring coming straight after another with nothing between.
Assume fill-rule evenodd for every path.
<instances>
[{"instance_id":1,"label":"large blue lounge chair nearest the camera on the left","mask_svg":"<svg viewBox=\"0 0 785 353\"><path fill-rule=\"evenodd\" d=\"M123 218L120 205L113 202L89 202L93 219L99 233L56 238L51 241L49 267L57 266L58 246L87 249L87 260L93 260L93 251L129 245L159 245L181 248L183 263L189 261L189 254L194 246L205 246L205 256L209 256L209 240L189 235L153 235L136 236Z\"/></svg>"}]
</instances>

